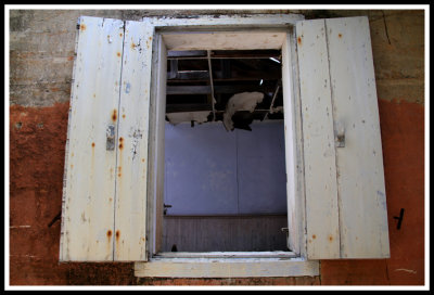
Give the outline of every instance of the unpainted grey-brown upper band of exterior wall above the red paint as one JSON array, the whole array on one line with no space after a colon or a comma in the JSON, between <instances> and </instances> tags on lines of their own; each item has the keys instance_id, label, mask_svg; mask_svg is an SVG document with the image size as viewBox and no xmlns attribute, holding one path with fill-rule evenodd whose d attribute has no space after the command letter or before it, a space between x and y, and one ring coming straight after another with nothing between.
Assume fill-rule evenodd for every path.
<instances>
[{"instance_id":1,"label":"unpainted grey-brown upper band of exterior wall above the red paint","mask_svg":"<svg viewBox=\"0 0 434 295\"><path fill-rule=\"evenodd\" d=\"M302 13L306 18L367 15L379 97L423 103L423 11L11 10L10 104L48 106L69 101L76 23L80 15L139 21L158 15L290 12Z\"/></svg>"}]
</instances>

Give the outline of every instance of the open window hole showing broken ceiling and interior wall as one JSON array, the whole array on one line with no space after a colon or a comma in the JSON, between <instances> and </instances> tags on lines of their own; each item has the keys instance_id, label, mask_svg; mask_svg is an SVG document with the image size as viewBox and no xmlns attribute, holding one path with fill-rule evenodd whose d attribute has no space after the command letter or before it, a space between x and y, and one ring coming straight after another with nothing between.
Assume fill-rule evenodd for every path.
<instances>
[{"instance_id":1,"label":"open window hole showing broken ceiling and interior wall","mask_svg":"<svg viewBox=\"0 0 434 295\"><path fill-rule=\"evenodd\" d=\"M168 51L162 252L289 251L280 56Z\"/></svg>"}]
</instances>

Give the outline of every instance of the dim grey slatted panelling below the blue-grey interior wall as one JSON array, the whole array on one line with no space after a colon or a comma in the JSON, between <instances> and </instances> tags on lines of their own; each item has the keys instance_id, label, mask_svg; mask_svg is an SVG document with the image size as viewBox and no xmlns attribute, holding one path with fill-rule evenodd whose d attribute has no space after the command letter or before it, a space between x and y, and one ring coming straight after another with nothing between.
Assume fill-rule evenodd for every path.
<instances>
[{"instance_id":1,"label":"dim grey slatted panelling below the blue-grey interior wall","mask_svg":"<svg viewBox=\"0 0 434 295\"><path fill-rule=\"evenodd\" d=\"M286 251L286 216L165 216L162 251Z\"/></svg>"}]
</instances>

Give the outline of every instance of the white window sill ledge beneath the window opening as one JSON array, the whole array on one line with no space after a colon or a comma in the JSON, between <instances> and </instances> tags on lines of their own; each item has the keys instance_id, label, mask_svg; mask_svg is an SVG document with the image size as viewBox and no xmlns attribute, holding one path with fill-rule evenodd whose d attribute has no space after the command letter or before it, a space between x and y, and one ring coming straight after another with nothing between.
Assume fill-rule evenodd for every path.
<instances>
[{"instance_id":1,"label":"white window sill ledge beneath the window opening","mask_svg":"<svg viewBox=\"0 0 434 295\"><path fill-rule=\"evenodd\" d=\"M153 257L135 264L138 278L315 277L319 261L299 257Z\"/></svg>"}]
</instances>

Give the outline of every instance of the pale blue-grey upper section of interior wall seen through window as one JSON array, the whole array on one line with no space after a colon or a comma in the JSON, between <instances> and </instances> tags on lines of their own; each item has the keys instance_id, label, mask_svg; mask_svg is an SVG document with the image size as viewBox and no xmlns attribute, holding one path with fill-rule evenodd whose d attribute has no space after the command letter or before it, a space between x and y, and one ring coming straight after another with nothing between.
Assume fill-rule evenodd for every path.
<instances>
[{"instance_id":1,"label":"pale blue-grey upper section of interior wall seen through window","mask_svg":"<svg viewBox=\"0 0 434 295\"><path fill-rule=\"evenodd\" d=\"M283 121L166 124L167 215L286 214Z\"/></svg>"}]
</instances>

